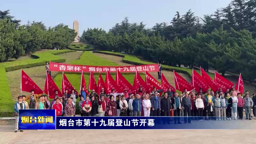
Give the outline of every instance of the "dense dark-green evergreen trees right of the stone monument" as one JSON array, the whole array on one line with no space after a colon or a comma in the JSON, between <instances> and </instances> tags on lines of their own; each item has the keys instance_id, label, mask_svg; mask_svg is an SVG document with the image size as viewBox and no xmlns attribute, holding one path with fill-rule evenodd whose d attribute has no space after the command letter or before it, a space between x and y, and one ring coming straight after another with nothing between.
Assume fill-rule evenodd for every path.
<instances>
[{"instance_id":1,"label":"dense dark-green evergreen trees right of the stone monument","mask_svg":"<svg viewBox=\"0 0 256 144\"><path fill-rule=\"evenodd\" d=\"M108 32L88 28L79 37L100 50L125 51L170 66L201 66L241 73L248 81L256 75L256 1L232 0L211 15L197 17L192 10L176 12L170 20L146 28L125 17Z\"/></svg>"}]
</instances>

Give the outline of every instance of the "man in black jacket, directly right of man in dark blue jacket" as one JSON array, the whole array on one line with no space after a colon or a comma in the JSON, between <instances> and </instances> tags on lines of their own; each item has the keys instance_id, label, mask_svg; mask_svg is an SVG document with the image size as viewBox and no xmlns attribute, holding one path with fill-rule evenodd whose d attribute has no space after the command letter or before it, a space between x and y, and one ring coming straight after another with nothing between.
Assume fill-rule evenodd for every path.
<instances>
[{"instance_id":1,"label":"man in black jacket, directly right of man in dark blue jacket","mask_svg":"<svg viewBox=\"0 0 256 144\"><path fill-rule=\"evenodd\" d=\"M163 118L163 123L165 124L166 121L170 124L169 114L172 111L172 103L170 98L167 97L167 92L164 92L164 97L161 99L161 116L166 116Z\"/></svg>"}]
</instances>

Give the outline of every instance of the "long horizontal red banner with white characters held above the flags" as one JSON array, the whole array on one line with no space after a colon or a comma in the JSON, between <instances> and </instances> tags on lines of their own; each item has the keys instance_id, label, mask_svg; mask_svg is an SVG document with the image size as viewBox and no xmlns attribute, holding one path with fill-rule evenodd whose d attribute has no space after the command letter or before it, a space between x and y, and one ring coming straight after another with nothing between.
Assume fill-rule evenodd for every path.
<instances>
[{"instance_id":1,"label":"long horizontal red banner with white characters held above the flags","mask_svg":"<svg viewBox=\"0 0 256 144\"><path fill-rule=\"evenodd\" d=\"M158 64L150 64L150 65L140 65L140 66L118 66L118 67L108 67L108 66L86 66L86 65L71 65L65 63L55 63L50 62L50 71L62 71L62 72L107 72L115 73L117 70L122 73L132 73L137 71L149 71L149 72L158 72Z\"/></svg>"}]
</instances>

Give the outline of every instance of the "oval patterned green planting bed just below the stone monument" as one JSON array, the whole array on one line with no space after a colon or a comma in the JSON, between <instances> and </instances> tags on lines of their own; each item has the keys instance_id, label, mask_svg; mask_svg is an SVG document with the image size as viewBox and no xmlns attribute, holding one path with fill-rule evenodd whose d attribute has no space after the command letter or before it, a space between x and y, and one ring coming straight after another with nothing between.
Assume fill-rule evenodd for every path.
<instances>
[{"instance_id":1,"label":"oval patterned green planting bed just below the stone monument","mask_svg":"<svg viewBox=\"0 0 256 144\"><path fill-rule=\"evenodd\" d=\"M92 51L94 50L94 46L87 43L82 42L72 42L70 45L68 45L68 48L71 50L76 51Z\"/></svg>"}]
</instances>

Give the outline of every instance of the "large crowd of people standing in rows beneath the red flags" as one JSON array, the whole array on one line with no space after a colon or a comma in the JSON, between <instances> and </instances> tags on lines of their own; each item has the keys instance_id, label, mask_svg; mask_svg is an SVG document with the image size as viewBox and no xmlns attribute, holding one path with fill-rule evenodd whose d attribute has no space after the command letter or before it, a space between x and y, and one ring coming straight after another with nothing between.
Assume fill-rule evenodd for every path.
<instances>
[{"instance_id":1,"label":"large crowd of people standing in rows beneath the red flags","mask_svg":"<svg viewBox=\"0 0 256 144\"><path fill-rule=\"evenodd\" d=\"M243 111L245 109L245 119L252 120L256 116L256 94L249 96L246 91L244 97L241 93L227 89L222 92L207 91L187 92L185 89L180 95L178 92L172 92L171 88L164 92L153 88L152 92L145 92L142 87L135 95L128 93L124 89L123 93L116 93L113 89L111 93L106 94L104 89L97 94L94 90L87 95L82 88L80 93L72 90L68 93L65 90L61 96L55 91L55 98L50 101L47 95L35 94L33 90L28 96L21 95L14 105L15 132L18 131L19 109L55 109L56 116L75 116L76 99L79 98L78 108L81 116L172 116L174 124L191 123L191 120L243 120ZM38 101L37 101L38 98ZM26 101L28 100L28 102ZM238 115L237 115L238 114ZM170 124L170 121L165 121ZM23 132L22 130L20 130Z\"/></svg>"}]
</instances>

